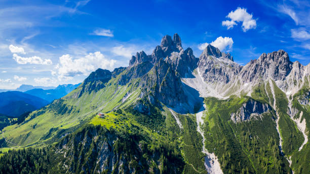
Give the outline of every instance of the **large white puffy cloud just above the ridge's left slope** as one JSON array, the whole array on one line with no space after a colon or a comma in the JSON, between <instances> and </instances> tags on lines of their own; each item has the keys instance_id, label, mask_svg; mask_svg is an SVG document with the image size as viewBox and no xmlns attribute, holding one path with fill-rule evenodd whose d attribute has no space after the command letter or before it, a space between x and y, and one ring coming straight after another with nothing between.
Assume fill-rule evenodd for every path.
<instances>
[{"instance_id":1,"label":"large white puffy cloud just above the ridge's left slope","mask_svg":"<svg viewBox=\"0 0 310 174\"><path fill-rule=\"evenodd\" d=\"M66 54L59 57L56 71L52 71L52 75L58 75L59 79L70 79L76 75L88 75L98 68L112 69L115 62L113 59L106 59L100 52L89 53L78 59Z\"/></svg>"}]
</instances>

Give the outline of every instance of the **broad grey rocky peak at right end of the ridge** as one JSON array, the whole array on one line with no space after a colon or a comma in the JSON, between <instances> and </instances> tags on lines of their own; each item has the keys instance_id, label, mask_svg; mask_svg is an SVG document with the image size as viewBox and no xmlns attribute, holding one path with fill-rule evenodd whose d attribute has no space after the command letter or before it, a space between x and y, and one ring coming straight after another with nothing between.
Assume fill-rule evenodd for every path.
<instances>
[{"instance_id":1,"label":"broad grey rocky peak at right end of the ridge","mask_svg":"<svg viewBox=\"0 0 310 174\"><path fill-rule=\"evenodd\" d=\"M268 78L275 81L285 80L292 70L292 65L288 54L283 50L268 54L263 53L257 60L251 60L242 68L240 77L245 82Z\"/></svg>"}]
</instances>

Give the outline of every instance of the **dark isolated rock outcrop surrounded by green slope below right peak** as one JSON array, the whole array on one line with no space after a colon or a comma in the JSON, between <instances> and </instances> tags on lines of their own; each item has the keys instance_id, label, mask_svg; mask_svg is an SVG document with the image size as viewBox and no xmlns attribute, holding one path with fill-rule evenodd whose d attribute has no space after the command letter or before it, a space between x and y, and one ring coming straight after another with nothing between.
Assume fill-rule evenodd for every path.
<instances>
[{"instance_id":1,"label":"dark isolated rock outcrop surrounded by green slope below right peak","mask_svg":"<svg viewBox=\"0 0 310 174\"><path fill-rule=\"evenodd\" d=\"M251 117L260 116L269 110L272 109L268 104L250 99L236 113L231 113L230 116L231 120L236 123L249 120Z\"/></svg>"}]
</instances>

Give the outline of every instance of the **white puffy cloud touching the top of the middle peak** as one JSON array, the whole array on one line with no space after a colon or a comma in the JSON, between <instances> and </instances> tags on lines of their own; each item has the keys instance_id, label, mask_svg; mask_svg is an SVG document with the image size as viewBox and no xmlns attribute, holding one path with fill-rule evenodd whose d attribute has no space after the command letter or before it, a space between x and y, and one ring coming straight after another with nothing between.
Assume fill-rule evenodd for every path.
<instances>
[{"instance_id":1,"label":"white puffy cloud touching the top of the middle peak","mask_svg":"<svg viewBox=\"0 0 310 174\"><path fill-rule=\"evenodd\" d=\"M217 37L214 41L212 41L210 43L210 45L212 45L213 47L218 48L220 51L231 51L232 48L232 44L234 43L234 41L232 40L231 37L222 37L219 36ZM201 43L198 48L199 50L204 50L207 46L209 45L209 43Z\"/></svg>"}]
</instances>

